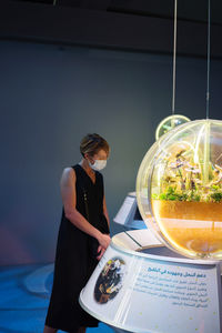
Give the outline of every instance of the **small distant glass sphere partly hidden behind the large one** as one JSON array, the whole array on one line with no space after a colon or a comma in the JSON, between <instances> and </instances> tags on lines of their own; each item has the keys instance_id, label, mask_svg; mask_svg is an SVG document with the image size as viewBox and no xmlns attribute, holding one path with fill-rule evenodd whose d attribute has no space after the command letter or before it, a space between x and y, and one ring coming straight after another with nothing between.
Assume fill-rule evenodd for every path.
<instances>
[{"instance_id":1,"label":"small distant glass sphere partly hidden behind the large one","mask_svg":"<svg viewBox=\"0 0 222 333\"><path fill-rule=\"evenodd\" d=\"M155 130L155 140L159 140L160 137L168 133L170 130L188 121L190 121L190 119L182 114L172 114L164 118Z\"/></svg>"}]
</instances>

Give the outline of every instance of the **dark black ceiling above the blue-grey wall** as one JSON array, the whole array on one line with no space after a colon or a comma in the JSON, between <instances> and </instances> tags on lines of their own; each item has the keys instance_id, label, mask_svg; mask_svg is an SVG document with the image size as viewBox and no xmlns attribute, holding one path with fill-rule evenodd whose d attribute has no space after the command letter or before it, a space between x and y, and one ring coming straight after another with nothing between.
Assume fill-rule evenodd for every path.
<instances>
[{"instance_id":1,"label":"dark black ceiling above the blue-grey wall","mask_svg":"<svg viewBox=\"0 0 222 333\"><path fill-rule=\"evenodd\" d=\"M178 0L179 56L206 57L209 0ZM172 53L174 0L1 0L0 39ZM222 1L211 57L222 59Z\"/></svg>"}]
</instances>

